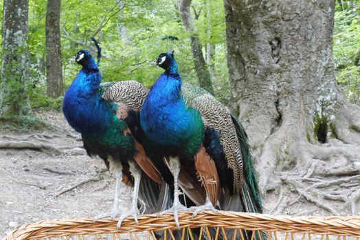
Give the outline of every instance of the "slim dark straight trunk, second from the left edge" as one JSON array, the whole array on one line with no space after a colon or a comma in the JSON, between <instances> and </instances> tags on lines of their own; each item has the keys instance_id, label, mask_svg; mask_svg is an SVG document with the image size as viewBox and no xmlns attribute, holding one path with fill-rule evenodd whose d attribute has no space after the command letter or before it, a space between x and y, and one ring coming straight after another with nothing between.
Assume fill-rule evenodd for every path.
<instances>
[{"instance_id":1,"label":"slim dark straight trunk, second from the left edge","mask_svg":"<svg viewBox=\"0 0 360 240\"><path fill-rule=\"evenodd\" d=\"M60 0L47 0L46 10L47 95L63 95L63 71L60 44Z\"/></svg>"}]
</instances>

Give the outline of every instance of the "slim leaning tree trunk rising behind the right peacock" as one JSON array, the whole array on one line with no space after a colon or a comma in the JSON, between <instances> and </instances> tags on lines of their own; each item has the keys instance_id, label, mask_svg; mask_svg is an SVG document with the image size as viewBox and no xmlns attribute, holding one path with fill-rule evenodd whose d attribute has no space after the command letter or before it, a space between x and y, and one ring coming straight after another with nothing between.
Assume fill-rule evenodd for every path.
<instances>
[{"instance_id":1,"label":"slim leaning tree trunk rising behind the right peacock","mask_svg":"<svg viewBox=\"0 0 360 240\"><path fill-rule=\"evenodd\" d=\"M214 94L212 82L210 80L210 73L207 69L205 59L203 56L203 47L200 44L199 36L196 34L196 29L190 15L191 0L179 0L178 7L183 19L183 24L190 34L190 43L192 49L192 57L194 59L195 71L199 80L199 86Z\"/></svg>"}]
</instances>

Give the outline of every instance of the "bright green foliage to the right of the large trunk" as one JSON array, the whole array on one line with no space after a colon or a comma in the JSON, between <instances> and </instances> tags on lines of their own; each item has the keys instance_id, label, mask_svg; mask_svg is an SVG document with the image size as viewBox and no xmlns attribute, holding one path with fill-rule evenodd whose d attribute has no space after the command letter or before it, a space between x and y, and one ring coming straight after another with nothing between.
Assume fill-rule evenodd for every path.
<instances>
[{"instance_id":1,"label":"bright green foliage to the right of the large trunk","mask_svg":"<svg viewBox=\"0 0 360 240\"><path fill-rule=\"evenodd\" d=\"M337 4L334 60L337 82L354 104L360 104L360 1Z\"/></svg>"}]
</instances>

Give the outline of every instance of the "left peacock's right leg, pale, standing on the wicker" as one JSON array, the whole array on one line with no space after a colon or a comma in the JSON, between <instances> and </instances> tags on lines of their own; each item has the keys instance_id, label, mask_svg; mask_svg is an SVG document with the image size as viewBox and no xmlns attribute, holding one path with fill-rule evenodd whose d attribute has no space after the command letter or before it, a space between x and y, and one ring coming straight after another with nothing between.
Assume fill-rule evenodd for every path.
<instances>
[{"instance_id":1,"label":"left peacock's right leg, pale, standing on the wicker","mask_svg":"<svg viewBox=\"0 0 360 240\"><path fill-rule=\"evenodd\" d=\"M142 170L137 166L137 164L134 161L129 161L128 165L130 165L130 172L131 175L134 177L134 189L133 189L133 200L131 202L131 210L127 213L123 213L119 217L119 221L117 221L117 228L120 228L122 221L126 217L133 216L136 224L139 224L139 221L137 221L137 214L139 213L139 210L137 209L137 196L139 195L139 186L140 186L140 180L142 178Z\"/></svg>"}]
</instances>

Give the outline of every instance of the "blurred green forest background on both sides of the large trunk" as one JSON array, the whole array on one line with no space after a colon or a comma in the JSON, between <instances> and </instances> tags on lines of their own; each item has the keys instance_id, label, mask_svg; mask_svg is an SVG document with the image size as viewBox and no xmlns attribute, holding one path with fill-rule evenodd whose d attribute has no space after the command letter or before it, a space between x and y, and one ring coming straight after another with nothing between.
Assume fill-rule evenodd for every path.
<instances>
[{"instance_id":1,"label":"blurred green forest background on both sides of the large trunk","mask_svg":"<svg viewBox=\"0 0 360 240\"><path fill-rule=\"evenodd\" d=\"M6 2L10 0L0 3L1 13ZM27 77L23 84L24 91L30 96L32 110L60 110L63 93L80 69L71 58L80 49L90 49L95 55L92 36L102 47L100 69L104 82L136 80L151 86L159 69L149 66L149 62L159 53L174 48L185 82L201 83L195 70L198 68L194 66L190 32L183 24L175 1L63 0L61 10L59 3L60 0L49 0L49 5L45 0L28 2L27 46L23 45L18 51L26 55L23 71ZM333 38L337 83L354 104L360 104L359 5L360 1L337 1ZM213 89L218 99L229 104L223 1L194 0L190 12L192 27L202 46L200 54L205 60L205 74L211 80L211 86L205 88ZM56 26L56 14L60 14L60 35L54 33L56 27L55 30L49 27L47 34L47 21ZM2 14L0 18L2 21ZM177 36L179 40L162 40L164 36ZM56 50L56 38L60 38L61 53ZM47 44L50 51L47 51ZM54 86L56 91L47 91L47 86ZM14 94L12 97L18 98ZM27 124L21 123L26 128Z\"/></svg>"}]
</instances>

